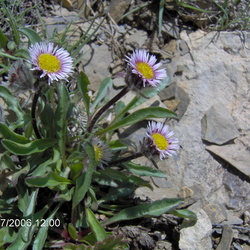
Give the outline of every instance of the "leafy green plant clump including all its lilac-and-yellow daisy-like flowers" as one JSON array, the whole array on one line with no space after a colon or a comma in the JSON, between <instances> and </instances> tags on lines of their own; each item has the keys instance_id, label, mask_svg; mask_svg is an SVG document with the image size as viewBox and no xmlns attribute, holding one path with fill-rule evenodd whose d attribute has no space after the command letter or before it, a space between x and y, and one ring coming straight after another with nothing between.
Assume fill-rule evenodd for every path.
<instances>
[{"instance_id":1,"label":"leafy green plant clump including all its lilac-and-yellow daisy-like flowers","mask_svg":"<svg viewBox=\"0 0 250 250\"><path fill-rule=\"evenodd\" d=\"M194 213L178 209L181 198L133 204L136 188L152 189L143 176L166 174L132 160L167 160L175 154L178 139L169 127L150 121L133 152L113 137L115 130L142 120L176 118L161 107L131 111L167 85L156 57L134 51L126 58L126 86L107 100L112 80L106 78L91 98L88 76L75 66L100 25L72 44L71 23L60 37L48 37L23 27L1 4L10 28L0 32L1 75L8 74L0 86L5 103L0 123L1 248L128 249L124 236L109 232L108 225L163 213L195 223ZM74 90L67 87L70 81L77 83ZM130 91L137 95L125 105L122 97ZM107 113L112 113L108 124L103 122Z\"/></svg>"}]
</instances>

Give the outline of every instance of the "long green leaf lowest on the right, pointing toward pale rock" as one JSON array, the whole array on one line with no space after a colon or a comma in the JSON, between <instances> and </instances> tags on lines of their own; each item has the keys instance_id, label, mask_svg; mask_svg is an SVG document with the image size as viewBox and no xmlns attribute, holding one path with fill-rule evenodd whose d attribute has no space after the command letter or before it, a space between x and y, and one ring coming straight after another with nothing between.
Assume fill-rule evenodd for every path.
<instances>
[{"instance_id":1,"label":"long green leaf lowest on the right, pointing toward pale rock","mask_svg":"<svg viewBox=\"0 0 250 250\"><path fill-rule=\"evenodd\" d=\"M183 199L163 199L151 204L141 204L135 207L123 209L121 212L104 222L104 225L118 221L132 220L143 216L160 216L167 213L183 202Z\"/></svg>"}]
</instances>

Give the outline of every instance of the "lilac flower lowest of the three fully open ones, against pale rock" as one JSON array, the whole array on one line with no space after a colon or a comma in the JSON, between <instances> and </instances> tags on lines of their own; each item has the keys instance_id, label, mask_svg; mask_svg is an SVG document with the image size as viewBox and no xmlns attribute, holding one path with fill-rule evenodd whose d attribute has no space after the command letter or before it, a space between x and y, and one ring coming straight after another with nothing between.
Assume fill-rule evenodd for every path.
<instances>
[{"instance_id":1,"label":"lilac flower lowest of the three fully open ones, against pale rock","mask_svg":"<svg viewBox=\"0 0 250 250\"><path fill-rule=\"evenodd\" d=\"M149 148L153 148L161 160L176 154L180 147L178 139L172 137L174 132L161 122L149 122L146 135Z\"/></svg>"}]
</instances>

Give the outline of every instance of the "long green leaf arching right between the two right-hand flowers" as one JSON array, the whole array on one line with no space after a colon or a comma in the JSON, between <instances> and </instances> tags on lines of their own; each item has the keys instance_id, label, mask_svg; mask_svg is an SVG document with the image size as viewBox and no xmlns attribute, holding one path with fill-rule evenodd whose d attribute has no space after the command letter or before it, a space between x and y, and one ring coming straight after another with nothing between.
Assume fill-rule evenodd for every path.
<instances>
[{"instance_id":1,"label":"long green leaf arching right between the two right-hand flowers","mask_svg":"<svg viewBox=\"0 0 250 250\"><path fill-rule=\"evenodd\" d=\"M108 128L101 130L97 134L98 135L104 134L108 131L129 126L144 119L150 119L150 118L176 118L176 114L171 110L161 107L149 107L140 109L126 116L121 121L118 121L117 123L109 126Z\"/></svg>"}]
</instances>

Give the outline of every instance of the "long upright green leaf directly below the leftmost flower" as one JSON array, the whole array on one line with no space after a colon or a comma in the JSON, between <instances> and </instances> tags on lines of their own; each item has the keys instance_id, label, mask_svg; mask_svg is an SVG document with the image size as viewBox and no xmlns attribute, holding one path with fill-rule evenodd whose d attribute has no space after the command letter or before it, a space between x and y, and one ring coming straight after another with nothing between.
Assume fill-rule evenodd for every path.
<instances>
[{"instance_id":1,"label":"long upright green leaf directly below the leftmost flower","mask_svg":"<svg viewBox=\"0 0 250 250\"><path fill-rule=\"evenodd\" d=\"M63 165L64 167L66 167L65 148L67 140L67 114L70 107L70 97L65 84L59 82L57 84L57 90L58 105L55 112L55 129L60 152L62 155Z\"/></svg>"}]
</instances>

